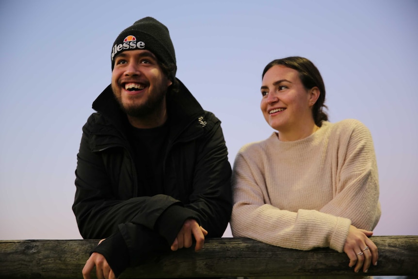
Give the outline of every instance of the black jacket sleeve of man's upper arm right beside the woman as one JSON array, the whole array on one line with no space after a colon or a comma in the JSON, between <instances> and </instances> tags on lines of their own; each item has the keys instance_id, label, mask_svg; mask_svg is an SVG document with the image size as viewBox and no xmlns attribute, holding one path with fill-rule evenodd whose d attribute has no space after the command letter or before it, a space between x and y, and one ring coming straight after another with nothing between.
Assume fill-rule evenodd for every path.
<instances>
[{"instance_id":1,"label":"black jacket sleeve of man's upper arm right beside the woman","mask_svg":"<svg viewBox=\"0 0 418 279\"><path fill-rule=\"evenodd\" d=\"M199 214L208 237L221 237L232 212L231 166L221 122L216 121L197 146L193 192L185 207Z\"/></svg>"}]
</instances>

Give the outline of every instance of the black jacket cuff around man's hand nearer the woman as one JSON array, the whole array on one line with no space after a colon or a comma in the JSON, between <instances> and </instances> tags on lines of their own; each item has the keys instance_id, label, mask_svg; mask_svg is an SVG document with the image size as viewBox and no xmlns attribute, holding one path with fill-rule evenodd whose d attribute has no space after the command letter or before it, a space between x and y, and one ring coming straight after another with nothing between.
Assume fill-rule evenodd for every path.
<instances>
[{"instance_id":1,"label":"black jacket cuff around man's hand nearer the woman","mask_svg":"<svg viewBox=\"0 0 418 279\"><path fill-rule=\"evenodd\" d=\"M187 219L194 219L201 224L197 212L175 204L160 215L154 229L171 245Z\"/></svg>"}]
</instances>

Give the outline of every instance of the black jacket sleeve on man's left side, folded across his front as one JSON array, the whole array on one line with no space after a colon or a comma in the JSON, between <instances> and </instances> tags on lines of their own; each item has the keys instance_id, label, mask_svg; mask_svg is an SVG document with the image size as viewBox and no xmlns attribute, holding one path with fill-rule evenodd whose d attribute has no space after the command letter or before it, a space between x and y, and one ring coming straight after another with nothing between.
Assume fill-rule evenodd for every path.
<instances>
[{"instance_id":1,"label":"black jacket sleeve on man's left side, folded across his front","mask_svg":"<svg viewBox=\"0 0 418 279\"><path fill-rule=\"evenodd\" d=\"M111 185L111 178L106 173L102 156L93 152L89 146L90 136L86 124L83 127L80 151L77 155L76 194L72 207L83 238L109 237L118 231L120 224L125 223L141 223L153 229L157 219L168 208L184 209L180 201L167 195L117 198ZM182 214L177 214L172 222L180 223L185 218L193 217L197 218L193 216L193 212L182 211ZM184 220L180 220L182 218Z\"/></svg>"}]
</instances>

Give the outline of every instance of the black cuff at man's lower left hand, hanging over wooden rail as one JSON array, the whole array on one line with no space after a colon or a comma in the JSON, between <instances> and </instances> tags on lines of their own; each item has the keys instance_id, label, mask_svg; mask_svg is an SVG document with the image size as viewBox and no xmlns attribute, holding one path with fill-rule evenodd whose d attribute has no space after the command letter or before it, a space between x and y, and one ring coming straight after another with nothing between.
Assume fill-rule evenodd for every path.
<instances>
[{"instance_id":1,"label":"black cuff at man's lower left hand, hanging over wooden rail","mask_svg":"<svg viewBox=\"0 0 418 279\"><path fill-rule=\"evenodd\" d=\"M106 258L116 278L129 266L128 246L119 231L103 240L90 252L90 255L94 252Z\"/></svg>"}]
</instances>

